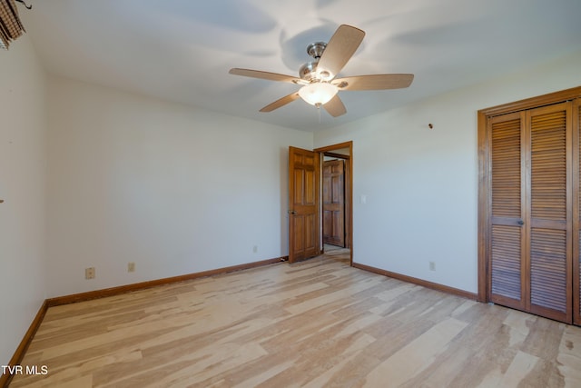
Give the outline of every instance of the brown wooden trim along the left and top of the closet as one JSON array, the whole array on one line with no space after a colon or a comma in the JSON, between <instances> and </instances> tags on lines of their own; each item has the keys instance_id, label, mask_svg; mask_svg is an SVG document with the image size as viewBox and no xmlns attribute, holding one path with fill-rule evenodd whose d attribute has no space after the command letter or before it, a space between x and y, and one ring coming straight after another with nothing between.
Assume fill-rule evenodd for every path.
<instances>
[{"instance_id":1,"label":"brown wooden trim along the left and top of the closet","mask_svg":"<svg viewBox=\"0 0 581 388\"><path fill-rule=\"evenodd\" d=\"M558 104L579 97L581 97L581 86L478 111L478 302L489 302L488 278L491 275L488 252L488 241L490 238L490 198L488 196L490 182L488 177L491 173L489 160L490 145L488 143L487 130L488 119L499 114L509 114L548 104ZM576 190L575 186L574 190ZM574 194L574 204L577 195L577 193ZM574 216L573 219L574 223L578 223L578 217ZM574 262L576 260L574 257Z\"/></svg>"}]
</instances>

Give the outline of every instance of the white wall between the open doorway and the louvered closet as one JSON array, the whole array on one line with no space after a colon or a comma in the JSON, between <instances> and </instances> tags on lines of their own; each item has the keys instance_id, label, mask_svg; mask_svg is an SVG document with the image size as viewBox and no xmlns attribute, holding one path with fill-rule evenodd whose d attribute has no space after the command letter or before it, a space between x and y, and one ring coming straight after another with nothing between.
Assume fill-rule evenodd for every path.
<instances>
[{"instance_id":1,"label":"white wall between the open doorway and the louvered closet","mask_svg":"<svg viewBox=\"0 0 581 388\"><path fill-rule=\"evenodd\" d=\"M581 52L315 133L353 141L353 261L476 293L477 111L581 85L580 68Z\"/></svg>"}]
</instances>

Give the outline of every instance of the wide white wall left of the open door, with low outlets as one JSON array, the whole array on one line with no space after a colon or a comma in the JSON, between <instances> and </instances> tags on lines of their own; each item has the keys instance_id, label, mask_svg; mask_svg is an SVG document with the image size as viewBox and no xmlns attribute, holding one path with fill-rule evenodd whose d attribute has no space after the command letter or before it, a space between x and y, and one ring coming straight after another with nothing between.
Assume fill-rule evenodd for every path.
<instances>
[{"instance_id":1,"label":"wide white wall left of the open door, with low outlets","mask_svg":"<svg viewBox=\"0 0 581 388\"><path fill-rule=\"evenodd\" d=\"M312 134L62 78L49 101L49 296L288 254L288 146Z\"/></svg>"}]
</instances>

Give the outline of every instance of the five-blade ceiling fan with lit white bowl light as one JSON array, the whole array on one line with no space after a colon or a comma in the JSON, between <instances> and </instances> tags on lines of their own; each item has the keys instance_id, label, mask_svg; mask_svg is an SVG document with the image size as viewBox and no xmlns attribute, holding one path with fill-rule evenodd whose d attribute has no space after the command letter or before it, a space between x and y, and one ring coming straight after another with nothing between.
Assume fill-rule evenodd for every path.
<instances>
[{"instance_id":1,"label":"five-blade ceiling fan with lit white bowl light","mask_svg":"<svg viewBox=\"0 0 581 388\"><path fill-rule=\"evenodd\" d=\"M314 58L314 61L300 67L299 77L237 67L232 68L229 73L302 85L297 92L285 95L264 106L261 112L271 112L301 97L307 103L318 108L322 106L330 115L337 117L347 113L345 105L337 95L341 90L399 89L408 87L414 79L414 75L407 74L355 75L335 78L355 54L364 36L365 32L359 28L340 25L331 36L329 43L315 42L308 45L307 53Z\"/></svg>"}]
</instances>

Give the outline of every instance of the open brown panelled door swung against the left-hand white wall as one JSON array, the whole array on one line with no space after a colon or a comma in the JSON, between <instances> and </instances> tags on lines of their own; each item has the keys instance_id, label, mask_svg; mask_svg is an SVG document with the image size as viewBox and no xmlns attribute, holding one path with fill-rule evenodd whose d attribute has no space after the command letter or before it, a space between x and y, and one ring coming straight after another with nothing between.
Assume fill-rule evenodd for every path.
<instances>
[{"instance_id":1,"label":"open brown panelled door swung against the left-hand white wall","mask_svg":"<svg viewBox=\"0 0 581 388\"><path fill-rule=\"evenodd\" d=\"M289 262L320 254L320 154L289 147Z\"/></svg>"}]
</instances>

